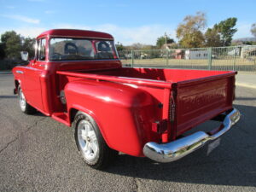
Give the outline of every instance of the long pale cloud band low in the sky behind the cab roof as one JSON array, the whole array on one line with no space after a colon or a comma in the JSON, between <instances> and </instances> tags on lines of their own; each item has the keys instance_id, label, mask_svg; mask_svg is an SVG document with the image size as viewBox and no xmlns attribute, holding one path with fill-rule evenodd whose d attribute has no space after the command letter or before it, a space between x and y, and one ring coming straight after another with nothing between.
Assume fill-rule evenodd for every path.
<instances>
[{"instance_id":1,"label":"long pale cloud band low in the sky behind the cab roof","mask_svg":"<svg viewBox=\"0 0 256 192\"><path fill-rule=\"evenodd\" d=\"M134 43L140 44L155 44L157 38L163 36L165 32L171 33L171 38L175 39L175 27L164 26L164 25L145 25L145 26L134 26L134 27L123 27L113 24L104 24L96 26L84 26L84 25L73 25L73 24L52 24L46 27L16 27L6 28L0 27L0 34L6 31L15 30L22 36L35 38L40 33L54 28L66 28L66 29L82 29L82 30L93 30L100 32L108 32L113 35L115 42L119 42L124 45L130 45ZM175 39L176 40L176 39Z\"/></svg>"}]
</instances>

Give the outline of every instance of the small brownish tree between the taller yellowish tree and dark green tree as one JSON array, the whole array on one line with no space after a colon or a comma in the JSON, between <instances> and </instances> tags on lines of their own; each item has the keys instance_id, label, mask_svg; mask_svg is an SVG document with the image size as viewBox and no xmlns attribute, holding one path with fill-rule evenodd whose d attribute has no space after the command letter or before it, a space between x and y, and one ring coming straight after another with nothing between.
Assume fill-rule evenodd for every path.
<instances>
[{"instance_id":1,"label":"small brownish tree between the taller yellowish tree and dark green tree","mask_svg":"<svg viewBox=\"0 0 256 192\"><path fill-rule=\"evenodd\" d=\"M208 28L205 32L205 41L207 47L218 47L221 46L220 35L216 28Z\"/></svg>"}]
</instances>

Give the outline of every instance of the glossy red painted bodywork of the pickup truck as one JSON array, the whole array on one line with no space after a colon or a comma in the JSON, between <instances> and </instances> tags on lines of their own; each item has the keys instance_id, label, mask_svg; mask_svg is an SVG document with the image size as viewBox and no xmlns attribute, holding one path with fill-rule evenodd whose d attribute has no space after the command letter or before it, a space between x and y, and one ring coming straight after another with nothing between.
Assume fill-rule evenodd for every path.
<instances>
[{"instance_id":1,"label":"glossy red painted bodywork of the pickup truck","mask_svg":"<svg viewBox=\"0 0 256 192\"><path fill-rule=\"evenodd\" d=\"M76 30L50 30L38 38L48 42L51 36L113 38L107 33ZM71 125L73 110L89 113L110 148L135 156L143 156L145 143L175 140L232 108L236 74L125 68L118 59L48 61L48 56L46 61L15 67L13 73L34 108L65 125ZM61 90L67 105L60 101ZM166 129L155 131L154 123L165 120Z\"/></svg>"}]
</instances>

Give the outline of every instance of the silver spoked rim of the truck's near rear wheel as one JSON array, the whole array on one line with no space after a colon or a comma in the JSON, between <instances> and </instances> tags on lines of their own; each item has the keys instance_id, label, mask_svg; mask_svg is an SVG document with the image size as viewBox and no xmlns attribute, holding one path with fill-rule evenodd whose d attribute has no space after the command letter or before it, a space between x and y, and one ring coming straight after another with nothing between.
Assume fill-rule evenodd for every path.
<instances>
[{"instance_id":1,"label":"silver spoked rim of the truck's near rear wheel","mask_svg":"<svg viewBox=\"0 0 256 192\"><path fill-rule=\"evenodd\" d=\"M94 160L98 154L99 147L92 125L88 120L81 120L78 126L79 147L85 160Z\"/></svg>"}]
</instances>

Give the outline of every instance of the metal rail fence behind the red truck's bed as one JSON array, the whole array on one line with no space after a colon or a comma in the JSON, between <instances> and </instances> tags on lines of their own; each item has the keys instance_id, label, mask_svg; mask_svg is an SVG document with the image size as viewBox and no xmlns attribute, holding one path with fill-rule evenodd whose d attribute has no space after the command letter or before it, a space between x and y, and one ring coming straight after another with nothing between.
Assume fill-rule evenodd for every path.
<instances>
[{"instance_id":1,"label":"metal rail fence behind the red truck's bed","mask_svg":"<svg viewBox=\"0 0 256 192\"><path fill-rule=\"evenodd\" d=\"M119 51L125 67L256 71L256 46Z\"/></svg>"}]
</instances>

